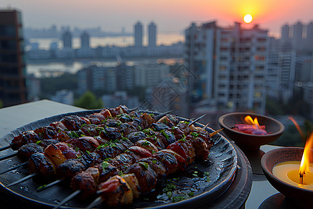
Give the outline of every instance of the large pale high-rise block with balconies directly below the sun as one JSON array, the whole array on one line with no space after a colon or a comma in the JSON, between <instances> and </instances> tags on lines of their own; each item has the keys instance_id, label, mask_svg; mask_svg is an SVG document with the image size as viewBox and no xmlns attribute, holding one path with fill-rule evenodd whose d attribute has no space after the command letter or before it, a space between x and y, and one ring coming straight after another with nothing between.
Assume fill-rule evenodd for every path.
<instances>
[{"instance_id":1,"label":"large pale high-rise block with balconies directly below the sun","mask_svg":"<svg viewBox=\"0 0 313 209\"><path fill-rule=\"evenodd\" d=\"M209 22L186 29L184 59L198 78L189 92L219 109L253 109L264 113L268 58L267 31L256 25L243 29Z\"/></svg>"}]
</instances>

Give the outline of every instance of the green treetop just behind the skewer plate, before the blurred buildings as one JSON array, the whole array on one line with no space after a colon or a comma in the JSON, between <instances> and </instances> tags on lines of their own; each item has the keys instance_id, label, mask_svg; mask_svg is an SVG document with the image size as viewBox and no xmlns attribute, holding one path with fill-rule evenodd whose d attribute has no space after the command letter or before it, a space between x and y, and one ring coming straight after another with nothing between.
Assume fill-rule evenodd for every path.
<instances>
[{"instance_id":1,"label":"green treetop just behind the skewer plate, before the blurred buildings","mask_svg":"<svg viewBox=\"0 0 313 209\"><path fill-rule=\"evenodd\" d=\"M79 99L74 101L74 106L85 109L101 109L104 105L101 98L97 99L91 91L86 91Z\"/></svg>"}]
</instances>

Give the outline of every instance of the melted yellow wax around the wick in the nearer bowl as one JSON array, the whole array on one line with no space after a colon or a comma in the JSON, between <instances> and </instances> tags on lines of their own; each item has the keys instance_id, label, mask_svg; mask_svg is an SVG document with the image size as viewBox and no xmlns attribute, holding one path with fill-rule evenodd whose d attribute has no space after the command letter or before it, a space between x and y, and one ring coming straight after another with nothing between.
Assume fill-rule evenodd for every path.
<instances>
[{"instance_id":1,"label":"melted yellow wax around the wick in the nearer bowl","mask_svg":"<svg viewBox=\"0 0 313 209\"><path fill-rule=\"evenodd\" d=\"M303 182L299 176L299 168L300 161L281 162L273 167L273 175L284 183L313 191L313 164L310 163L308 171L303 176Z\"/></svg>"}]
</instances>

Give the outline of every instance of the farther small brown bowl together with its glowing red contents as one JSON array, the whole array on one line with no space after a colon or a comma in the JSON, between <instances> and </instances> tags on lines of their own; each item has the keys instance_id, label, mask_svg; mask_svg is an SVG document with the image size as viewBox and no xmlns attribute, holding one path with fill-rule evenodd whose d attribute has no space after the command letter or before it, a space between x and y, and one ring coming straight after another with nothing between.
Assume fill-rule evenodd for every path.
<instances>
[{"instance_id":1,"label":"farther small brown bowl together with its glowing red contents","mask_svg":"<svg viewBox=\"0 0 313 209\"><path fill-rule=\"evenodd\" d=\"M257 125L245 121L250 116ZM261 145L271 143L284 132L284 125L274 118L250 112L234 112L218 119L223 133L243 150L257 150Z\"/></svg>"}]
</instances>

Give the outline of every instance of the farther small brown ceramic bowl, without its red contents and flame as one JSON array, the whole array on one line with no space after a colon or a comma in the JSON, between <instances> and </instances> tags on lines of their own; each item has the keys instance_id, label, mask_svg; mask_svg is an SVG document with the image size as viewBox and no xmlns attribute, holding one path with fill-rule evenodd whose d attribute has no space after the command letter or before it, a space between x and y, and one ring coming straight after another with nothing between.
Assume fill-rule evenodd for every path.
<instances>
[{"instance_id":1,"label":"farther small brown ceramic bowl, without its red contents and flame","mask_svg":"<svg viewBox=\"0 0 313 209\"><path fill-rule=\"evenodd\" d=\"M265 125L265 129L268 132L266 135L246 134L233 130L232 127L239 123L244 123L244 118L251 116L252 118L257 117L259 125ZM284 125L280 121L263 116L260 114L253 114L248 112L235 112L220 116L218 119L220 127L223 128L223 132L226 136L232 139L236 145L243 150L257 150L259 146L268 144L278 139L284 132Z\"/></svg>"}]
</instances>

